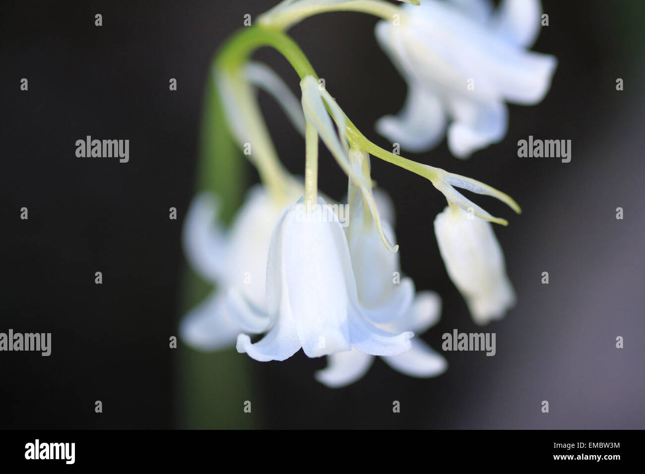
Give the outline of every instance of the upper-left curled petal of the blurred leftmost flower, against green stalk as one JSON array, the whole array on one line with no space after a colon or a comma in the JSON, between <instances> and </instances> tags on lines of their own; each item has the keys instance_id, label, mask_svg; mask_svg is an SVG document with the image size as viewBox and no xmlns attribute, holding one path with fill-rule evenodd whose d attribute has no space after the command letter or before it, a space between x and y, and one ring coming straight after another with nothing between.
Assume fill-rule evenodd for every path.
<instances>
[{"instance_id":1,"label":"upper-left curled petal of the blurred leftmost flower, against green stalk","mask_svg":"<svg viewBox=\"0 0 645 474\"><path fill-rule=\"evenodd\" d=\"M226 232L215 222L219 205L211 193L197 195L190 204L183 226L184 253L190 266L210 282L225 274Z\"/></svg>"}]
</instances>

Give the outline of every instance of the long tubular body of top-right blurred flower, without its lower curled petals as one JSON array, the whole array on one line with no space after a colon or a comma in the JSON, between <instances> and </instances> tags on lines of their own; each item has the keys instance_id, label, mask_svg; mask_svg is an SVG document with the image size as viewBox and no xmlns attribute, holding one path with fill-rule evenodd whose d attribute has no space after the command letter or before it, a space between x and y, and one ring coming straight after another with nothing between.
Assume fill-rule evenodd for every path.
<instances>
[{"instance_id":1,"label":"long tubular body of top-right blurred flower, without its lower curled petals","mask_svg":"<svg viewBox=\"0 0 645 474\"><path fill-rule=\"evenodd\" d=\"M548 91L555 57L526 52L450 3L424 2L406 12L409 25L381 21L377 39L408 83L488 103L535 104Z\"/></svg>"}]
</instances>

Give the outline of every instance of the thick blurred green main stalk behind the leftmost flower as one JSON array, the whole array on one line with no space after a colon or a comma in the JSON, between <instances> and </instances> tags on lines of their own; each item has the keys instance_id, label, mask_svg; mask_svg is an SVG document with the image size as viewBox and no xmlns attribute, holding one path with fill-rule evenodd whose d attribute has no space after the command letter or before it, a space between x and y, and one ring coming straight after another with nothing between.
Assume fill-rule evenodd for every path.
<instances>
[{"instance_id":1,"label":"thick blurred green main stalk behind the leftmost flower","mask_svg":"<svg viewBox=\"0 0 645 474\"><path fill-rule=\"evenodd\" d=\"M210 191L220 202L220 221L229 224L246 190L246 163L233 141L215 81L210 75L206 89L197 192ZM181 315L213 291L186 266L181 289ZM179 427L188 429L253 428L253 413L244 413L251 400L252 382L248 357L235 348L211 353L196 351L179 341L177 396Z\"/></svg>"}]
</instances>

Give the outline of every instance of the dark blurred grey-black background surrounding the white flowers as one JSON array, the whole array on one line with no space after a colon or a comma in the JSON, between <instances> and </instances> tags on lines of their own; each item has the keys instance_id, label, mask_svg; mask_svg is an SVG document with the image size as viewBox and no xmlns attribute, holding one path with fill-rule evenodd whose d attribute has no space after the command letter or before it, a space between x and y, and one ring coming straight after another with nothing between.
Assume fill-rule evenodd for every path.
<instances>
[{"instance_id":1,"label":"dark blurred grey-black background surrounding the white flowers","mask_svg":"<svg viewBox=\"0 0 645 474\"><path fill-rule=\"evenodd\" d=\"M364 379L330 390L313 379L324 360L302 352L261 363L168 347L186 308L181 223L210 60L244 14L274 3L3 2L0 331L51 332L52 355L0 353L0 428L645 428L640 0L544 1L550 26L534 49L559 59L546 99L511 105L504 141L468 161L445 141L409 155L500 188L523 208L516 216L477 199L510 221L495 232L519 295L483 330L497 333L495 357L444 353L448 371L428 380L376 360ZM290 34L359 129L389 148L373 124L399 110L406 86L375 43L375 22L326 14ZM298 90L278 54L256 57ZM261 104L281 158L302 173L303 140L268 97ZM130 139L130 162L75 157L86 135ZM571 139L571 163L518 158L528 135ZM320 162L321 188L341 199L346 178L328 153ZM443 298L441 322L423 339L440 350L446 331L480 331L437 250L432 222L444 199L416 175L376 159L372 168L395 202L403 271Z\"/></svg>"}]
</instances>

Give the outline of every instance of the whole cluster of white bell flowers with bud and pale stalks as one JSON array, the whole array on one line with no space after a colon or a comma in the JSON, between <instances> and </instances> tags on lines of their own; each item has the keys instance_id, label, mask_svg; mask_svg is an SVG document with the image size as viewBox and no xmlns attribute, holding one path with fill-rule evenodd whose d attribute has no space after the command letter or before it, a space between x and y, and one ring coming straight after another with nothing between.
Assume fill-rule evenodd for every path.
<instances>
[{"instance_id":1,"label":"whole cluster of white bell flowers with bud and pale stalks","mask_svg":"<svg viewBox=\"0 0 645 474\"><path fill-rule=\"evenodd\" d=\"M506 131L504 100L539 101L550 84L553 57L526 52L537 35L541 8L505 0L495 13L487 0L425 0L395 6L381 0L285 0L261 28L288 28L308 15L357 10L384 18L376 36L409 85L399 117L377 130L410 150L437 143L446 129L453 154L464 157L499 141ZM386 20L388 18L388 20ZM395 21L392 20L395 19ZM271 70L246 63L219 68L215 80L228 123L240 144L252 143L263 184L253 187L227 230L217 223L217 200L198 195L184 224L184 246L213 294L181 322L184 342L201 350L235 345L255 360L284 360L301 348L328 356L316 374L330 387L366 373L375 355L414 377L446 370L446 360L420 338L433 326L441 299L415 291L401 277L393 205L372 188L370 155L429 179L448 201L435 219L448 275L478 324L504 316L515 302L504 256L490 222L506 224L455 187L515 202L486 184L384 152L358 132L314 74L302 74L301 101ZM475 80L474 90L466 88ZM270 92L305 137L304 184L279 164L253 88ZM338 203L319 196L319 139L348 175L341 222ZM343 225L345 224L345 225ZM251 335L263 335L252 342ZM415 336L416 335L416 336Z\"/></svg>"}]
</instances>

